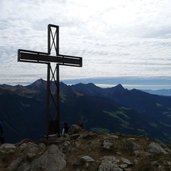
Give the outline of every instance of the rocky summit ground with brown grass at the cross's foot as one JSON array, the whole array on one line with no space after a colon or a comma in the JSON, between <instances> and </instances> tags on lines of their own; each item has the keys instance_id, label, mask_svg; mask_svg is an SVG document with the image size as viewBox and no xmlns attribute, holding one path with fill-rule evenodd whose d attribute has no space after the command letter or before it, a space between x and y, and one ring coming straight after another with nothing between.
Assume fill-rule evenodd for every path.
<instances>
[{"instance_id":1,"label":"rocky summit ground with brown grass at the cross's foot","mask_svg":"<svg viewBox=\"0 0 171 171\"><path fill-rule=\"evenodd\" d=\"M144 137L70 134L0 146L0 171L171 171L171 148Z\"/></svg>"}]
</instances>

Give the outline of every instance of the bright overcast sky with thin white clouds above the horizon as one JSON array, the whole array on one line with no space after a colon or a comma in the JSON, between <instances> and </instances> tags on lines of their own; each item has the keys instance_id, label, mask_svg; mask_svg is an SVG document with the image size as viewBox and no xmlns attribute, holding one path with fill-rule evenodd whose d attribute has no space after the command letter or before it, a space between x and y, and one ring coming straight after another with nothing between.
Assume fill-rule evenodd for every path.
<instances>
[{"instance_id":1,"label":"bright overcast sky with thin white clouds above the horizon","mask_svg":"<svg viewBox=\"0 0 171 171\"><path fill-rule=\"evenodd\" d=\"M0 0L0 84L46 78L17 49L46 52L48 24L61 54L83 57L61 79L171 76L171 0Z\"/></svg>"}]
</instances>

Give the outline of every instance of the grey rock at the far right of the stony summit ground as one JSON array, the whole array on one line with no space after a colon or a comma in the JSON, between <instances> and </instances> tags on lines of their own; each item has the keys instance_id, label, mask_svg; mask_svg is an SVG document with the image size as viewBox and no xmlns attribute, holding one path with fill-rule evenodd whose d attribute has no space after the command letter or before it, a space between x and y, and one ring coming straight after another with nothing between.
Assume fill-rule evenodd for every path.
<instances>
[{"instance_id":1,"label":"grey rock at the far right of the stony summit ground","mask_svg":"<svg viewBox=\"0 0 171 171\"><path fill-rule=\"evenodd\" d=\"M152 142L148 145L148 152L152 154L168 154L158 143Z\"/></svg>"}]
</instances>

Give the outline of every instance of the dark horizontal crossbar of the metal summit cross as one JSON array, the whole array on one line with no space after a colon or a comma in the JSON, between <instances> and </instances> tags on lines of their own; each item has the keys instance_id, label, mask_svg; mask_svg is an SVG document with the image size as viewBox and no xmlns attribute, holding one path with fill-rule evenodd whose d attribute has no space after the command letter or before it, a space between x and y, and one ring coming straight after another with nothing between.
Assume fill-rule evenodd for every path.
<instances>
[{"instance_id":1,"label":"dark horizontal crossbar of the metal summit cross","mask_svg":"<svg viewBox=\"0 0 171 171\"><path fill-rule=\"evenodd\" d=\"M32 63L44 63L44 64L54 62L59 65L82 67L81 57L60 55L60 54L57 56L50 56L48 53L28 51L28 50L23 50L23 49L18 50L18 61L32 62Z\"/></svg>"}]
</instances>

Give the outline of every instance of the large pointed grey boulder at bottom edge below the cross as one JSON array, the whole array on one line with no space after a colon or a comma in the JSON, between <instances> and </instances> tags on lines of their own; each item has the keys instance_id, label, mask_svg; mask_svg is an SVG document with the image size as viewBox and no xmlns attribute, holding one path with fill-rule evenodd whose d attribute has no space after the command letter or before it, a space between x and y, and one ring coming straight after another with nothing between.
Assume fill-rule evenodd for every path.
<instances>
[{"instance_id":1,"label":"large pointed grey boulder at bottom edge below the cross","mask_svg":"<svg viewBox=\"0 0 171 171\"><path fill-rule=\"evenodd\" d=\"M64 154L56 145L50 145L39 158L31 163L31 171L61 171L66 166Z\"/></svg>"}]
</instances>

